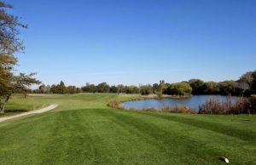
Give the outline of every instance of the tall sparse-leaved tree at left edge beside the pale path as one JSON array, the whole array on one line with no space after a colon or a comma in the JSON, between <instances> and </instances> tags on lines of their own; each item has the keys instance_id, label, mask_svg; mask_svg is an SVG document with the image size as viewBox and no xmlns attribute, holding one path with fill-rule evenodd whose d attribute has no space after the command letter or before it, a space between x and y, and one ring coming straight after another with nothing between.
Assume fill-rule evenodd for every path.
<instances>
[{"instance_id":1,"label":"tall sparse-leaved tree at left edge beside the pale path","mask_svg":"<svg viewBox=\"0 0 256 165\"><path fill-rule=\"evenodd\" d=\"M14 14L9 14L6 9L13 6L0 1L0 112L4 113L4 107L11 94L15 92L16 77L14 66L17 64L15 53L22 52L23 43L20 40L20 27L26 28Z\"/></svg>"}]
</instances>

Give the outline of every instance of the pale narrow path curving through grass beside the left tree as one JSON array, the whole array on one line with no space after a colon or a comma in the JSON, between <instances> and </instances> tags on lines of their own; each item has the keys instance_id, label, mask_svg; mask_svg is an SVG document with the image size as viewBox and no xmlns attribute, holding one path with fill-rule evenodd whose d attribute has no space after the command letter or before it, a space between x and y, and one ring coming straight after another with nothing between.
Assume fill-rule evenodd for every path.
<instances>
[{"instance_id":1,"label":"pale narrow path curving through grass beside the left tree","mask_svg":"<svg viewBox=\"0 0 256 165\"><path fill-rule=\"evenodd\" d=\"M49 106L47 106L47 107L45 107L45 108L42 108L42 109L40 109L40 110L27 111L27 112L20 113L20 114L18 114L18 115L14 115L14 116L11 116L11 117L1 117L1 118L0 118L0 122L7 121L7 120L11 120L11 119L14 119L14 118L17 118L17 117L23 117L23 116L26 116L26 115L44 113L45 111L50 111L50 110L55 109L57 106L58 106L58 105L49 105Z\"/></svg>"}]
</instances>

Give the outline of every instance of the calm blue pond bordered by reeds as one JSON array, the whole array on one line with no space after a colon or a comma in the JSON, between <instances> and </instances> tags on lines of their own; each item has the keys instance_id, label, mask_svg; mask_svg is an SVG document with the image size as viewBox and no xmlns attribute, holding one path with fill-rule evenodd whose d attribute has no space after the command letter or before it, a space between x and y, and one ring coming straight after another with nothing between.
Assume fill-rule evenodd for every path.
<instances>
[{"instance_id":1,"label":"calm blue pond bordered by reeds","mask_svg":"<svg viewBox=\"0 0 256 165\"><path fill-rule=\"evenodd\" d=\"M227 96L222 95L193 95L189 98L166 98L162 100L136 100L136 101L126 101L121 105L125 107L125 109L135 108L135 109L146 109L146 108L155 108L160 109L165 106L175 106L175 105L184 105L189 107L190 109L194 109L198 111L199 105L205 103L205 101L209 98L216 98L221 102L225 102L227 100ZM236 101L236 97L232 96L232 102Z\"/></svg>"}]
</instances>

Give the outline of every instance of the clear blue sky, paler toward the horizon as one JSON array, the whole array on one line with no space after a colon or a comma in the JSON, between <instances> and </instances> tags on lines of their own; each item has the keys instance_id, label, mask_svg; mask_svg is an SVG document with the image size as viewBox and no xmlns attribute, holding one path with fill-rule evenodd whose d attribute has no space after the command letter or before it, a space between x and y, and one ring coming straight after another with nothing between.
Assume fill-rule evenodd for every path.
<instances>
[{"instance_id":1,"label":"clear blue sky, paler toward the horizon","mask_svg":"<svg viewBox=\"0 0 256 165\"><path fill-rule=\"evenodd\" d=\"M256 69L255 0L6 0L19 71L46 84L237 79Z\"/></svg>"}]
</instances>

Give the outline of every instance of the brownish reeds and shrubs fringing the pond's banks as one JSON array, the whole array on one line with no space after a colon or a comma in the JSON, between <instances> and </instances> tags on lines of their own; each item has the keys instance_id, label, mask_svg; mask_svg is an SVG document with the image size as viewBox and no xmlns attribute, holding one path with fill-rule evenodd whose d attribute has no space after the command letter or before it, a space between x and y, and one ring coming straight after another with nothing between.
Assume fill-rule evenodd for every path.
<instances>
[{"instance_id":1,"label":"brownish reeds and shrubs fringing the pond's banks","mask_svg":"<svg viewBox=\"0 0 256 165\"><path fill-rule=\"evenodd\" d=\"M249 98L246 97L238 97L235 103L232 103L231 96L228 95L226 101L221 102L218 99L209 98L205 101L204 104L199 105L199 111L195 111L194 109L190 109L185 105L173 105L173 106L164 106L161 108L148 107L143 109L129 108L125 109L124 106L120 105L122 102L126 101L136 101L136 100L161 100L166 98L175 98L182 99L188 98L191 96L170 96L163 95L162 98L157 95L148 95L143 98L131 99L131 100L111 100L108 103L108 106L128 111L158 111L158 112L172 112L172 113L190 113L190 114L252 114L254 115L256 112L256 95L252 95Z\"/></svg>"}]
</instances>

